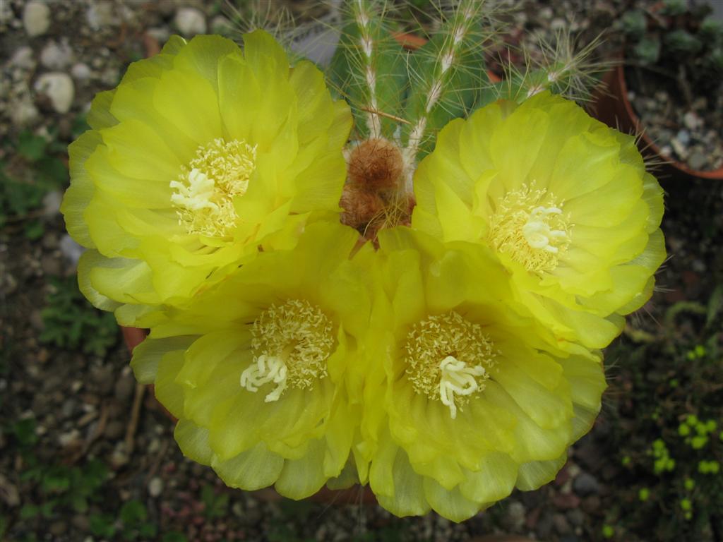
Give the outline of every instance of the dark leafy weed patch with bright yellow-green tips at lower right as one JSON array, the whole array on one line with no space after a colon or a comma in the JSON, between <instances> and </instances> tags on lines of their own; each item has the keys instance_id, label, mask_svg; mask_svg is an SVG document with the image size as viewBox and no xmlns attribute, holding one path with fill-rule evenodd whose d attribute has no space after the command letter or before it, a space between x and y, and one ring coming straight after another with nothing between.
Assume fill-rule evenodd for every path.
<instances>
[{"instance_id":1,"label":"dark leafy weed patch with bright yellow-green tips at lower right","mask_svg":"<svg viewBox=\"0 0 723 542\"><path fill-rule=\"evenodd\" d=\"M627 476L637 481L610 519L642 539L716 539L723 510L722 296L719 285L707 305L674 304L655 340L621 342L608 354L628 364L630 413L619 449Z\"/></svg>"}]
</instances>

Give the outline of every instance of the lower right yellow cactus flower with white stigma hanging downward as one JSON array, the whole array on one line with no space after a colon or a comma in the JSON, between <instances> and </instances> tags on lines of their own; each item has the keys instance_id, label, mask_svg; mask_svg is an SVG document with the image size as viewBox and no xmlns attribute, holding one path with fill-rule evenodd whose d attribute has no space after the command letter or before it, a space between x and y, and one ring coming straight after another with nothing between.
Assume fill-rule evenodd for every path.
<instances>
[{"instance_id":1,"label":"lower right yellow cactus flower with white stigma hanging downward","mask_svg":"<svg viewBox=\"0 0 723 542\"><path fill-rule=\"evenodd\" d=\"M369 374L385 378L365 390L360 447L382 507L461 521L551 481L599 412L599 353L554 348L510 311L508 274L485 246L406 228L380 245Z\"/></svg>"}]
</instances>

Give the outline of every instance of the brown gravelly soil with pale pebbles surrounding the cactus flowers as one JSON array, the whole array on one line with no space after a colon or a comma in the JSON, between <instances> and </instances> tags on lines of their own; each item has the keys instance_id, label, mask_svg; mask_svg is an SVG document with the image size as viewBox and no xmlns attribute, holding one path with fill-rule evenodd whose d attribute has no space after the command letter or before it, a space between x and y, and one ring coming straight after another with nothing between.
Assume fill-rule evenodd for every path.
<instances>
[{"instance_id":1,"label":"brown gravelly soil with pale pebbles surrounding the cactus flowers","mask_svg":"<svg viewBox=\"0 0 723 542\"><path fill-rule=\"evenodd\" d=\"M297 15L317 9L315 2L289 4ZM549 35L572 21L596 34L615 18L619 4L529 1L513 20L515 35L526 41L522 30ZM93 95L114 87L129 62L157 52L171 33L223 28L221 7L219 1L0 1L0 160L21 176L32 175L13 142L31 134L62 149L82 129L82 113ZM62 150L51 152L63 160ZM723 192L701 185L691 186L689 194L709 214L691 217L682 203L672 202L664 231L676 257L661 275L667 293L646 307L652 314L681 298L705 298L714 280L711 270L723 268L716 251ZM30 215L11 217L0 230L0 520L8 540L184 540L161 538L171 532L189 541L466 541L502 532L549 542L602 539L607 509L626 476L611 457L613 421L607 408L553 483L515 492L461 525L435 514L401 520L374 504L297 503L273 491L225 488L213 471L181 456L171 422L152 394L134 383L117 331L102 354L40 339L48 329L43 306L56 291L53 281L72 280L79 254L64 233L60 198L60 189L51 190ZM719 218L703 230L701 216ZM29 235L31 219L40 224L39 234ZM654 327L650 319L641 325ZM615 403L621 386L611 382L608 402ZM20 433L9 428L27 419L35 420L34 436L31 444L22 444ZM22 512L47 493L26 476L36 463L43 469L85 471L94 458L108 465L108 480L93 489L87 509L59 504L47 515ZM129 502L142 503L144 521L156 526L157 536L142 535L138 526L126 529L114 519ZM115 534L92 534L103 515L111 517ZM1 533L2 528L0 538Z\"/></svg>"}]
</instances>

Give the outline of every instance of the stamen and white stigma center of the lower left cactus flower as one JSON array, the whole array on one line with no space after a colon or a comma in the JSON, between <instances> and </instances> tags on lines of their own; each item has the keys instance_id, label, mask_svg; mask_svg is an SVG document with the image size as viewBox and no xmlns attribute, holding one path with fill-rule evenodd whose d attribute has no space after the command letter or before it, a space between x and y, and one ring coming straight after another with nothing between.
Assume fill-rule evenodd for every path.
<instances>
[{"instance_id":1,"label":"stamen and white stigma center of the lower left cactus flower","mask_svg":"<svg viewBox=\"0 0 723 542\"><path fill-rule=\"evenodd\" d=\"M251 327L252 363L241 373L241 387L256 392L276 384L265 401L277 401L286 387L310 390L326 376L334 346L333 326L319 307L291 299L263 311Z\"/></svg>"}]
</instances>

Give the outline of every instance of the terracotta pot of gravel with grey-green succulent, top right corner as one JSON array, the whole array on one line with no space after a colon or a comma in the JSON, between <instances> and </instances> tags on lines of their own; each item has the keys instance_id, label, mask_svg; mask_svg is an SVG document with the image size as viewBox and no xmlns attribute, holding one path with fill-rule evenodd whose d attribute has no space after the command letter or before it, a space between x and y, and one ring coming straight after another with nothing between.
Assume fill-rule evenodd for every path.
<instances>
[{"instance_id":1,"label":"terracotta pot of gravel with grey-green succulent, top right corner","mask_svg":"<svg viewBox=\"0 0 723 542\"><path fill-rule=\"evenodd\" d=\"M620 20L623 62L598 116L672 178L723 178L723 22L708 4L664 0Z\"/></svg>"}]
</instances>

